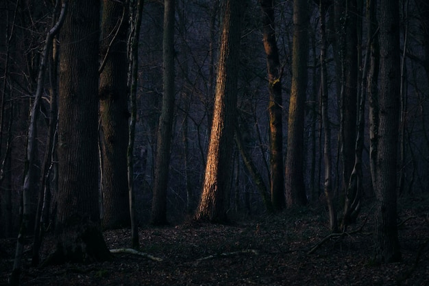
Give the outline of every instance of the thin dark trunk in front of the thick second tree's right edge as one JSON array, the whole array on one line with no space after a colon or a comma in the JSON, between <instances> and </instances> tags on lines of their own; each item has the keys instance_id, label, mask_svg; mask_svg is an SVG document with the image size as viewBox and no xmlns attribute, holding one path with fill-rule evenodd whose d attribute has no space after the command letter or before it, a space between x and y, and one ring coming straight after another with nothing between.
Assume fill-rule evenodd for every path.
<instances>
[{"instance_id":1,"label":"thin dark trunk in front of the thick second tree's right edge","mask_svg":"<svg viewBox=\"0 0 429 286\"><path fill-rule=\"evenodd\" d=\"M128 200L130 205L131 222L131 246L138 249L138 227L136 222L136 207L134 200L134 138L136 134L137 104L136 92L138 82L138 39L143 12L143 0L130 1L130 42L128 43L129 66L128 66L128 89L130 91L130 129L128 130L127 146L127 178L128 178Z\"/></svg>"}]
</instances>

